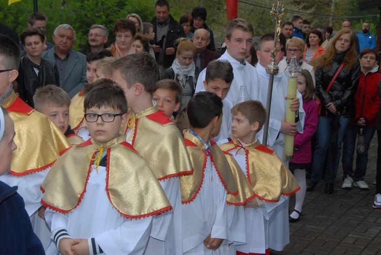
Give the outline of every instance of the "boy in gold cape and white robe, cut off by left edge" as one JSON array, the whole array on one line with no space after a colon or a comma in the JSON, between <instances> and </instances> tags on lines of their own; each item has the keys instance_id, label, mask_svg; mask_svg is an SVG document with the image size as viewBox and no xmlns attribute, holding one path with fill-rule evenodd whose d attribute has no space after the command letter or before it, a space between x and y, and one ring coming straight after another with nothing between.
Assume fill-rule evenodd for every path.
<instances>
[{"instance_id":1,"label":"boy in gold cape and white robe, cut off by left edge","mask_svg":"<svg viewBox=\"0 0 381 255\"><path fill-rule=\"evenodd\" d=\"M13 91L18 76L20 48L7 36L0 36L0 104L14 121L19 149L13 153L12 170L0 176L10 186L18 186L25 209L43 245L49 240L49 230L37 214L41 206L41 183L60 153L70 147L63 133L45 115L28 106ZM43 213L42 213L43 215ZM41 224L41 225L40 225ZM42 228L41 232L38 228ZM42 234L47 233L47 236ZM46 239L45 239L46 237Z\"/></svg>"}]
</instances>

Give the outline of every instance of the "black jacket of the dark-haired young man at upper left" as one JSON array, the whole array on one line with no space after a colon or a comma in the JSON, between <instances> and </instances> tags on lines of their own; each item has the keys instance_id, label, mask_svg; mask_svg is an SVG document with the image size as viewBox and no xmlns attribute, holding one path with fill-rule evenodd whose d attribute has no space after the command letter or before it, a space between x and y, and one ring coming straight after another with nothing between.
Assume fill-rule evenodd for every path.
<instances>
[{"instance_id":1,"label":"black jacket of the dark-haired young man at upper left","mask_svg":"<svg viewBox=\"0 0 381 255\"><path fill-rule=\"evenodd\" d=\"M33 95L37 88L50 84L59 86L59 74L55 63L41 58L40 67L40 72L42 72L41 82L29 58L23 56L20 60L19 74L16 79L18 85L17 92L20 99L31 107L35 107Z\"/></svg>"}]
</instances>

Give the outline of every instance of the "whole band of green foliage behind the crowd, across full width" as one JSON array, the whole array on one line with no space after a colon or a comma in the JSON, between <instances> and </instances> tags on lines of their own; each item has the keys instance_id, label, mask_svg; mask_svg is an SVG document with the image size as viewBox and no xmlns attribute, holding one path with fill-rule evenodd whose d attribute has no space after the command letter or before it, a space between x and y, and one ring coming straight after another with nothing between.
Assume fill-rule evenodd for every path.
<instances>
[{"instance_id":1,"label":"whole band of green foliage behind the crowd, across full width","mask_svg":"<svg viewBox=\"0 0 381 255\"><path fill-rule=\"evenodd\" d=\"M354 28L360 29L364 21L371 23L371 33L376 34L378 17L361 17L376 15L378 10L359 11L360 0L282 0L285 16L282 22L291 21L294 15L308 19L311 27L327 26L339 30L344 20L350 20ZM48 17L47 38L52 42L54 28L62 23L74 27L77 40L75 49L83 48L87 42L88 28L92 24L102 24L110 31L109 42L114 41L112 33L115 21L125 18L129 13L137 13L143 22L149 22L154 17L155 0L39 0L39 11ZM203 5L208 11L206 23L214 33L215 41L223 43L226 26L229 24L226 14L226 0L169 0L171 14L179 20L181 15L190 14L194 7ZM253 24L254 36L261 36L275 30L271 22L270 10L276 0L239 0L238 17L247 19ZM33 12L33 0L21 0L8 8L8 0L0 0L0 20L11 26L19 34L27 26L27 16ZM1 8L3 7L3 8ZM341 16L341 17L335 17ZM343 16L360 16L344 18Z\"/></svg>"}]
</instances>

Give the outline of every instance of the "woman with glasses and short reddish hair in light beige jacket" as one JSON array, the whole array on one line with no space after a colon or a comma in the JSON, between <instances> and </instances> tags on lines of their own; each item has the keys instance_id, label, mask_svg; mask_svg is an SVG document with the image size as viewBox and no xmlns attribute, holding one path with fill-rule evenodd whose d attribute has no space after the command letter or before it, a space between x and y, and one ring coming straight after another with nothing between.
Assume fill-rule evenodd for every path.
<instances>
[{"instance_id":1,"label":"woman with glasses and short reddish hair in light beige jacket","mask_svg":"<svg viewBox=\"0 0 381 255\"><path fill-rule=\"evenodd\" d=\"M300 69L306 69L311 74L313 85L315 85L315 74L313 67L303 61L302 55L304 52L304 41L298 37L293 37L286 42L287 57L279 62L279 69L284 73L284 70L290 65L291 57L296 56L296 62Z\"/></svg>"}]
</instances>

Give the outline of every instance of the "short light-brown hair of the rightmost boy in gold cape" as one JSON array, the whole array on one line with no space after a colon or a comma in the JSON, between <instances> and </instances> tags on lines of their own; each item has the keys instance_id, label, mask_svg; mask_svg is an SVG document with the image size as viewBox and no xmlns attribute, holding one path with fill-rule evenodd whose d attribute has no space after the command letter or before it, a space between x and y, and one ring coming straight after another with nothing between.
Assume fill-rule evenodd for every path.
<instances>
[{"instance_id":1,"label":"short light-brown hair of the rightmost boy in gold cape","mask_svg":"<svg viewBox=\"0 0 381 255\"><path fill-rule=\"evenodd\" d=\"M258 122L259 132L262 129L262 126L266 122L266 109L263 107L262 103L256 100L249 100L235 105L232 110L232 115L236 115L240 112L245 118L247 118L250 124Z\"/></svg>"}]
</instances>

